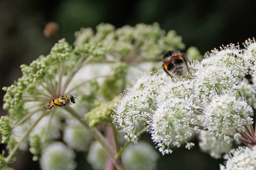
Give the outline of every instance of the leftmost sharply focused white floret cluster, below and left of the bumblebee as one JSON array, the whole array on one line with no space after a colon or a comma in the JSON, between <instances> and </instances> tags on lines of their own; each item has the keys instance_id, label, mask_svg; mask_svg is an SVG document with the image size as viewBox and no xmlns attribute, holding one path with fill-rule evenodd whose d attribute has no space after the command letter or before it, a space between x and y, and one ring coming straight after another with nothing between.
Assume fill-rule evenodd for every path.
<instances>
[{"instance_id":1,"label":"leftmost sharply focused white floret cluster, below and left of the bumblebee","mask_svg":"<svg viewBox=\"0 0 256 170\"><path fill-rule=\"evenodd\" d=\"M120 132L127 134L124 136L126 140L137 143L139 132L136 126L139 123L146 125L151 110L155 109L156 90L163 83L164 80L158 73L141 76L119 101L112 117Z\"/></svg>"}]
</instances>

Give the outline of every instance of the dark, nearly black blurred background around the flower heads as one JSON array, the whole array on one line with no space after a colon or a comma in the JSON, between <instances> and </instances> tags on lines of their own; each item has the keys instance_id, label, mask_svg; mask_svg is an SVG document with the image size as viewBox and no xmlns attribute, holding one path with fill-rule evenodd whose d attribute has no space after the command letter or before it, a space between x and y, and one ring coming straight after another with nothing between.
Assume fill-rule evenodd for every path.
<instances>
[{"instance_id":1,"label":"dark, nearly black blurred background around the flower heads","mask_svg":"<svg viewBox=\"0 0 256 170\"><path fill-rule=\"evenodd\" d=\"M255 37L255 7L256 1L251 0L1 0L0 87L10 86L21 76L21 64L49 54L59 39L66 38L72 44L76 30L95 29L101 22L111 23L116 28L158 22L162 29L176 30L187 48L198 47L201 54L222 44L239 43L243 47L245 39ZM60 31L46 38L43 29L51 21L60 25ZM4 93L0 91L1 99ZM2 106L2 100L0 104ZM1 110L0 115L4 114L7 113ZM31 161L26 160L32 159L29 153L20 155L16 166L13 165L16 169L38 169L37 162L30 164ZM192 151L180 148L161 156L159 169L180 169L176 166L186 164L186 160L191 166L185 169L219 169L222 160L202 155L199 156L196 148ZM209 159L209 163L202 162L202 158Z\"/></svg>"}]
</instances>

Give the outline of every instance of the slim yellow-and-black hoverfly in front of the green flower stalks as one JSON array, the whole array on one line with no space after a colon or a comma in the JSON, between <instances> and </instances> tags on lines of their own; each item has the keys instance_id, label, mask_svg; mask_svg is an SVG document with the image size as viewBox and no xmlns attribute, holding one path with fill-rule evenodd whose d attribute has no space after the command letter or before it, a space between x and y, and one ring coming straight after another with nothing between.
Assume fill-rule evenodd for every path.
<instances>
[{"instance_id":1,"label":"slim yellow-and-black hoverfly in front of the green flower stalks","mask_svg":"<svg viewBox=\"0 0 256 170\"><path fill-rule=\"evenodd\" d=\"M54 100L50 101L46 107L45 106L43 106L43 107L45 109L51 110L52 107L56 107L56 106L63 107L63 106L75 104L76 103L75 100L76 100L75 96L65 95L65 96L58 97L58 99L54 99Z\"/></svg>"}]
</instances>

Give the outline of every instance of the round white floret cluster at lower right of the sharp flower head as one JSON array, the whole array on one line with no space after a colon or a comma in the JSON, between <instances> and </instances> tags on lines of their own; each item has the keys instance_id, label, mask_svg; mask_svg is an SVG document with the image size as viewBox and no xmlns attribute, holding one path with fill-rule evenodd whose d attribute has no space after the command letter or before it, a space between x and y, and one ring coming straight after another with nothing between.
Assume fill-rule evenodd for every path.
<instances>
[{"instance_id":1,"label":"round white floret cluster at lower right of the sharp flower head","mask_svg":"<svg viewBox=\"0 0 256 170\"><path fill-rule=\"evenodd\" d=\"M252 117L249 116L252 111L252 107L247 105L243 97L236 100L235 93L228 92L214 96L205 107L203 115L198 116L198 120L208 128L211 135L223 137L224 141L229 143L229 135L234 135L234 139L239 141L240 133L245 132L244 125L253 123Z\"/></svg>"}]
</instances>

